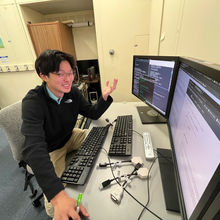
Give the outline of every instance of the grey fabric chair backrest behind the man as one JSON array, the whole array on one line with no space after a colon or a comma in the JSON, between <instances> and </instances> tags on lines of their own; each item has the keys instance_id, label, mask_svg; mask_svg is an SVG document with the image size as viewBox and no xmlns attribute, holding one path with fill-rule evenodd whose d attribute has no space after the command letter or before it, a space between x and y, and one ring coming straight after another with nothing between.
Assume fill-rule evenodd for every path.
<instances>
[{"instance_id":1,"label":"grey fabric chair backrest behind the man","mask_svg":"<svg viewBox=\"0 0 220 220\"><path fill-rule=\"evenodd\" d=\"M0 127L4 131L15 160L21 161L25 137L21 134L21 100L0 110Z\"/></svg>"}]
</instances>

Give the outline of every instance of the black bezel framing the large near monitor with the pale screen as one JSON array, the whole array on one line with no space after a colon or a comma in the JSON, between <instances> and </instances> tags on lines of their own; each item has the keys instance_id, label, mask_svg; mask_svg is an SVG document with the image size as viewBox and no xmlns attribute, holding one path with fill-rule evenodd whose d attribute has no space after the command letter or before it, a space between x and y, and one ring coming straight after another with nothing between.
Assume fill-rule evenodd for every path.
<instances>
[{"instance_id":1,"label":"black bezel framing the large near monitor with the pale screen","mask_svg":"<svg viewBox=\"0 0 220 220\"><path fill-rule=\"evenodd\" d=\"M199 62L199 60L197 62L196 59L193 59L193 58L180 57L179 64L178 64L178 70L179 70L181 63L185 63L185 64L189 65L190 67L203 73L205 76L208 76L209 78L216 80L217 82L220 83L220 68L215 69L215 68L213 68L212 64L210 64L210 66L207 66L206 65L207 62L205 62L205 61L204 61L204 63L202 63L202 62ZM217 67L218 67L218 65L217 65ZM178 76L178 71L177 71L177 76ZM179 198L179 203L180 203L180 212L182 215L182 219L183 220L202 219L203 216L207 213L212 202L214 201L214 199L217 197L217 195L219 193L219 190L220 190L220 165L218 165L214 175L212 176L203 195L201 196L198 204L196 205L192 215L189 218L187 218L185 201L184 201L184 197L183 197L180 175L179 175L179 171L178 171L175 146L173 143L169 120L167 122L167 125L168 125L168 133L169 133L169 137L170 137L171 151L172 151L172 156L173 156L173 161L174 161L174 171L175 171L177 192L178 192L178 198ZM214 217L214 216L212 216L212 217ZM210 218L210 219L212 219L212 218Z\"/></svg>"}]
</instances>

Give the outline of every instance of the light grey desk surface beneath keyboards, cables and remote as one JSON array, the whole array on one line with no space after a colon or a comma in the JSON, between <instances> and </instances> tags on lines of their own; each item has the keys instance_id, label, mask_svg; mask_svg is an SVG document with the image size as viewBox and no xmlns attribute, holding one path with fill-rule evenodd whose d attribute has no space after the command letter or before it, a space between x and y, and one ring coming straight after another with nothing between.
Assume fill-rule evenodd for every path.
<instances>
[{"instance_id":1,"label":"light grey desk surface beneath keyboards, cables and remote","mask_svg":"<svg viewBox=\"0 0 220 220\"><path fill-rule=\"evenodd\" d=\"M133 130L143 134L144 131L148 131L151 134L152 144L155 148L170 148L170 141L168 138L168 129L166 124L148 124L142 125L136 106L144 105L141 102L129 102L129 103L113 103L109 109L102 115L102 117L96 121L93 121L92 126L105 126L107 122L106 118L110 122L114 121L118 115L133 115ZM103 144L103 147L108 151L110 146L111 137L113 134L113 128L109 128L108 136ZM143 139L140 135L133 132L133 150L132 157L141 157L144 163L144 167L148 169L151 166L151 162L147 161L144 157ZM111 161L127 160L132 157L111 157ZM107 155L102 150L97 158L96 163L108 162ZM134 167L130 163L123 164L120 168L117 168L114 173L117 176L118 170L120 174L129 174L133 171ZM68 184L66 192L69 196L77 198L79 193L83 194L82 204L86 207L90 214L88 219L90 220L134 220L138 219L142 206L139 205L133 198L131 198L126 192L124 192L121 203L116 204L110 198L110 193L116 189L117 184L112 182L110 187L99 190L99 185L107 180L112 179L112 173L110 168L96 168L94 167L88 182L84 186L74 186ZM130 185L126 189L142 204L147 202L147 180L140 179L138 177L133 178ZM163 197L163 189L160 177L160 170L158 161L152 167L150 178L150 203L148 208L164 220L179 220L180 214L167 211L165 208L165 202ZM152 215L149 211L145 210L141 219L154 220L158 219Z\"/></svg>"}]
</instances>

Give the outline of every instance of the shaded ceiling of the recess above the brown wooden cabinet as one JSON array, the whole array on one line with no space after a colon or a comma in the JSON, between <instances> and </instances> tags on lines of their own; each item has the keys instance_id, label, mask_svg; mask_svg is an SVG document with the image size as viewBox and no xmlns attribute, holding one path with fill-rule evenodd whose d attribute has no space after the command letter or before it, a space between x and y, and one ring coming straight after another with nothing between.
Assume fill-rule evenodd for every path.
<instances>
[{"instance_id":1,"label":"shaded ceiling of the recess above the brown wooden cabinet","mask_svg":"<svg viewBox=\"0 0 220 220\"><path fill-rule=\"evenodd\" d=\"M22 4L22 6L42 15L93 10L92 0L53 0L53 2Z\"/></svg>"}]
</instances>

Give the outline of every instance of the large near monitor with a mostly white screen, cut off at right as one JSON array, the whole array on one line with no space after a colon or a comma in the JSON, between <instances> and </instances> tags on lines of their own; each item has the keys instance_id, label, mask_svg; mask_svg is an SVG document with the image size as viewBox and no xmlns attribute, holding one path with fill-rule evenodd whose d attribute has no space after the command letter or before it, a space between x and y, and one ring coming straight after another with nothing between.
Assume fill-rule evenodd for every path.
<instances>
[{"instance_id":1,"label":"large near monitor with a mostly white screen, cut off at right","mask_svg":"<svg viewBox=\"0 0 220 220\"><path fill-rule=\"evenodd\" d=\"M220 219L219 65L180 57L168 128L182 218Z\"/></svg>"}]
</instances>

